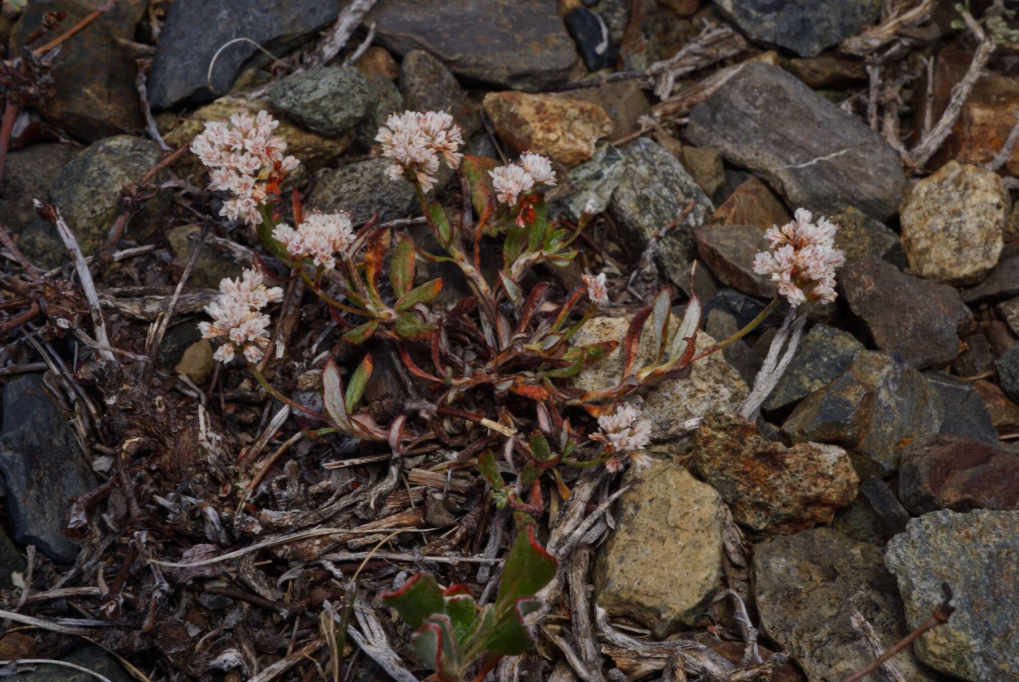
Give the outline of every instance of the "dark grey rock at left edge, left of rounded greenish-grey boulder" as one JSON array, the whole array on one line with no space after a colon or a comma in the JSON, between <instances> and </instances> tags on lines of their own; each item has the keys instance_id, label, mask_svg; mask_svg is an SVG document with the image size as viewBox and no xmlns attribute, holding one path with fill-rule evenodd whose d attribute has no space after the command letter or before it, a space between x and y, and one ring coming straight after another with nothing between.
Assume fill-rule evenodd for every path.
<instances>
[{"instance_id":1,"label":"dark grey rock at left edge, left of rounded greenish-grey boulder","mask_svg":"<svg viewBox=\"0 0 1019 682\"><path fill-rule=\"evenodd\" d=\"M0 182L0 221L7 229L18 232L35 219L32 201L49 197L53 180L76 151L71 145L43 143L7 155Z\"/></svg>"}]
</instances>

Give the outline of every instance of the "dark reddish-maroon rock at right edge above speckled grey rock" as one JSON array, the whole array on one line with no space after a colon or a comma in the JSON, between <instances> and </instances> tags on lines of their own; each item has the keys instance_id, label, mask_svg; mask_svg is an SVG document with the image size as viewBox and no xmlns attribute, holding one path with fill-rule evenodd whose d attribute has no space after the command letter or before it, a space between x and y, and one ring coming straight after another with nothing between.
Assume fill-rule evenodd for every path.
<instances>
[{"instance_id":1,"label":"dark reddish-maroon rock at right edge above speckled grey rock","mask_svg":"<svg viewBox=\"0 0 1019 682\"><path fill-rule=\"evenodd\" d=\"M1019 510L1019 456L961 435L925 435L902 451L899 497L914 514Z\"/></svg>"}]
</instances>

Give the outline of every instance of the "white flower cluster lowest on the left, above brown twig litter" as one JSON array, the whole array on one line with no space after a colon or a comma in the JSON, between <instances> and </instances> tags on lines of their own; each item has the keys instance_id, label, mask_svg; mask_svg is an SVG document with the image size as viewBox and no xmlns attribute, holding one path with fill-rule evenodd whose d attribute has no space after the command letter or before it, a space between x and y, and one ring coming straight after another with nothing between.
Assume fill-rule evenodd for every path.
<instances>
[{"instance_id":1,"label":"white flower cluster lowest on the left, above brown twig litter","mask_svg":"<svg viewBox=\"0 0 1019 682\"><path fill-rule=\"evenodd\" d=\"M212 322L199 322L202 337L225 337L213 356L216 360L229 362L238 349L250 362L262 359L269 345L269 316L259 311L283 298L282 288L268 288L262 279L261 274L248 269L240 273L239 279L224 277L219 282L219 296L205 307Z\"/></svg>"}]
</instances>

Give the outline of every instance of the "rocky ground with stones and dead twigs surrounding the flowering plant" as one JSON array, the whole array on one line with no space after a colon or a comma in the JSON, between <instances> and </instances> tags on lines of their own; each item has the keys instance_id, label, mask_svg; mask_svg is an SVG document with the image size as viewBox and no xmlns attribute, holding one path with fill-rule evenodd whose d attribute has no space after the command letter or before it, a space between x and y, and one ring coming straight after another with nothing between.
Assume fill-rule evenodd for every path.
<instances>
[{"instance_id":1,"label":"rocky ground with stones and dead twigs surrounding the flowering plant","mask_svg":"<svg viewBox=\"0 0 1019 682\"><path fill-rule=\"evenodd\" d=\"M419 569L490 592L514 529L475 460L458 458L481 436L447 420L457 447L396 458L388 487L385 448L302 438L307 424L214 363L196 328L222 277L269 256L219 216L196 157L157 166L205 121L264 109L302 161L291 179L307 205L356 224L414 218L413 187L384 179L374 142L387 114L411 109L450 112L469 154L548 156L553 215L575 221L593 202L579 256L524 282L551 282L562 300L581 274L608 274L611 303L576 343L623 338L661 286L678 315L691 295L703 302L698 350L731 336L775 294L752 269L764 229L799 207L840 224L847 256L837 302L803 306L803 338L759 416L736 411L787 304L635 399L653 425L648 470L568 474L591 495L578 513L630 487L564 558L569 587L538 650L494 678L839 682L930 618L948 584L949 623L865 679L1019 680L1014 3L118 0L50 50L29 93L11 60L44 13L66 15L36 48L101 5L5 0L0 17L0 660L58 660L113 682L309 682L333 676L320 614L359 566L369 600ZM340 10L353 33L330 54ZM463 206L441 172L435 196ZM93 257L112 362L34 199ZM396 226L431 248L422 220ZM495 241L482 256L498 267ZM440 306L469 296L454 267L418 267L422 281L444 278ZM361 351L300 282L287 296L267 375L314 405L325 358L353 371ZM420 397L393 347L368 350L365 402L388 423ZM154 378L136 382L149 352ZM653 357L650 329L638 354ZM571 385L623 371L619 349ZM532 408L514 418L535 427ZM544 499L552 542L572 512L555 486ZM318 527L357 532L290 536ZM408 527L431 530L363 563L387 529ZM228 552L186 568L146 561ZM357 624L368 644L345 644L343 679L424 679L409 629L378 602L371 613ZM386 650L410 677L381 662Z\"/></svg>"}]
</instances>

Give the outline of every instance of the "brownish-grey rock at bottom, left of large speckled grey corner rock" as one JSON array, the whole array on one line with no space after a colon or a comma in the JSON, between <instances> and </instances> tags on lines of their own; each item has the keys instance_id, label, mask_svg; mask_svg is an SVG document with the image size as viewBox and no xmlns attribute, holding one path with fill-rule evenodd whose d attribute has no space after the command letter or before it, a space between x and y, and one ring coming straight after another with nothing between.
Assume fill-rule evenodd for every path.
<instances>
[{"instance_id":1,"label":"brownish-grey rock at bottom, left of large speckled grey corner rock","mask_svg":"<svg viewBox=\"0 0 1019 682\"><path fill-rule=\"evenodd\" d=\"M845 679L873 660L850 622L855 612L867 619L883 649L908 632L881 550L829 528L758 544L752 575L761 629L792 653L810 682ZM909 650L895 665L907 682L936 679Z\"/></svg>"}]
</instances>

